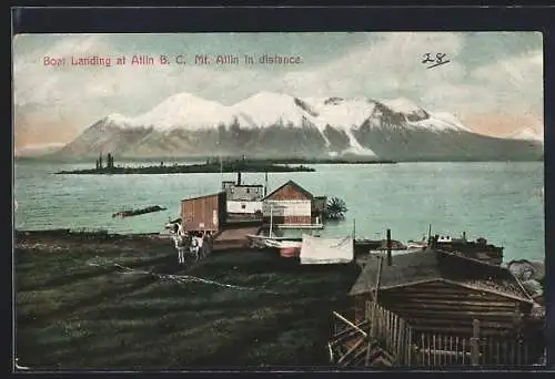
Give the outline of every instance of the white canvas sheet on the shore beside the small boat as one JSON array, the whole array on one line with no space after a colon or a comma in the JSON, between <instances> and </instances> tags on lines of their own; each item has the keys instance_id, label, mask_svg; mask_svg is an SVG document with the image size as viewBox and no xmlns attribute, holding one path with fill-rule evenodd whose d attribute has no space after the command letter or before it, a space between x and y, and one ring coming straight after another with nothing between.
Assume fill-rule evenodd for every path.
<instances>
[{"instance_id":1,"label":"white canvas sheet on the shore beside the small boat","mask_svg":"<svg viewBox=\"0 0 555 379\"><path fill-rule=\"evenodd\" d=\"M321 238L304 235L301 265L350 263L354 259L353 238Z\"/></svg>"}]
</instances>

